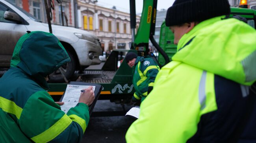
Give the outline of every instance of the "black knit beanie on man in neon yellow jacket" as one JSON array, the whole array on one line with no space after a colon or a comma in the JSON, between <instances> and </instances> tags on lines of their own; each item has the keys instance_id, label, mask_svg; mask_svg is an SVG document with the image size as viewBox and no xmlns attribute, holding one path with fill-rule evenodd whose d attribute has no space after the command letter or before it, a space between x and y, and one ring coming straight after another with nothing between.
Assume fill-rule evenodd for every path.
<instances>
[{"instance_id":1,"label":"black knit beanie on man in neon yellow jacket","mask_svg":"<svg viewBox=\"0 0 256 143\"><path fill-rule=\"evenodd\" d=\"M201 22L216 16L230 14L228 0L175 0L167 10L165 25Z\"/></svg>"}]
</instances>

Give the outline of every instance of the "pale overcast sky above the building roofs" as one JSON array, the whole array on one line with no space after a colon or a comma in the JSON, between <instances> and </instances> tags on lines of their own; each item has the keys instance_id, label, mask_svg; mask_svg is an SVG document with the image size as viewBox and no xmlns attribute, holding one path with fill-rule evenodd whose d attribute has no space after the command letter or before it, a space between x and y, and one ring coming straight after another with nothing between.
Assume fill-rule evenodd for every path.
<instances>
[{"instance_id":1,"label":"pale overcast sky above the building roofs","mask_svg":"<svg viewBox=\"0 0 256 143\"><path fill-rule=\"evenodd\" d=\"M174 0L158 0L157 10L168 9L173 5ZM143 9L143 0L135 0L136 13L141 13ZM130 0L98 0L98 5L112 8L114 5L119 11L130 13Z\"/></svg>"}]
</instances>

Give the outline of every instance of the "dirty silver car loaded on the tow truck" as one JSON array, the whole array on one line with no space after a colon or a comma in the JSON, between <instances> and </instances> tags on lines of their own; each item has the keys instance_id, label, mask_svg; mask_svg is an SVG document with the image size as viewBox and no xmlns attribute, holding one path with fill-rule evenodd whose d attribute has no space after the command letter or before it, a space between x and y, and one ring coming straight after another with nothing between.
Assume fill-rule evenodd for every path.
<instances>
[{"instance_id":1,"label":"dirty silver car loaded on the tow truck","mask_svg":"<svg viewBox=\"0 0 256 143\"><path fill-rule=\"evenodd\" d=\"M0 69L9 68L13 49L26 31L49 32L48 24L41 22L24 9L5 0L0 0ZM101 55L98 37L73 27L52 25L52 33L67 50L71 62L51 74L51 82L63 82L63 74L71 78L76 70L100 64ZM61 72L63 74L61 74Z\"/></svg>"}]
</instances>

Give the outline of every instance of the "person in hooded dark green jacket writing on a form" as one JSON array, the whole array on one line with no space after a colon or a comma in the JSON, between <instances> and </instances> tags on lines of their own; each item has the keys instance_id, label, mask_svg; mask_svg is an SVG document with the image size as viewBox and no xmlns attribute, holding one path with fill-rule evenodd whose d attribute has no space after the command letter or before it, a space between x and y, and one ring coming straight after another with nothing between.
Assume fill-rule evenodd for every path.
<instances>
[{"instance_id":1,"label":"person in hooded dark green jacket writing on a form","mask_svg":"<svg viewBox=\"0 0 256 143\"><path fill-rule=\"evenodd\" d=\"M0 142L77 143L89 122L92 87L67 114L61 111L46 91L47 80L70 58L53 34L27 32L15 46L10 69L0 78Z\"/></svg>"}]
</instances>

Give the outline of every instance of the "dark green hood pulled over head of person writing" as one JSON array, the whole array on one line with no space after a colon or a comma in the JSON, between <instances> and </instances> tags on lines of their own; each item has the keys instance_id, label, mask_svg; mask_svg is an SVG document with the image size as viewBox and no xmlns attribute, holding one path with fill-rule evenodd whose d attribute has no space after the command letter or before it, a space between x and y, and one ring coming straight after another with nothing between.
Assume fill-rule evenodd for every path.
<instances>
[{"instance_id":1,"label":"dark green hood pulled over head of person writing","mask_svg":"<svg viewBox=\"0 0 256 143\"><path fill-rule=\"evenodd\" d=\"M70 62L69 55L51 33L33 31L24 34L17 42L11 59L11 67L17 67L48 89L46 76L61 65Z\"/></svg>"}]
</instances>

